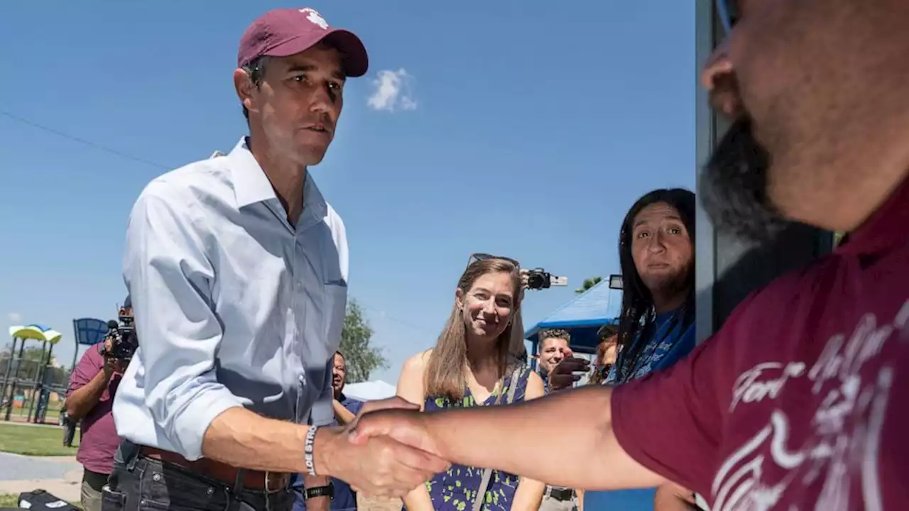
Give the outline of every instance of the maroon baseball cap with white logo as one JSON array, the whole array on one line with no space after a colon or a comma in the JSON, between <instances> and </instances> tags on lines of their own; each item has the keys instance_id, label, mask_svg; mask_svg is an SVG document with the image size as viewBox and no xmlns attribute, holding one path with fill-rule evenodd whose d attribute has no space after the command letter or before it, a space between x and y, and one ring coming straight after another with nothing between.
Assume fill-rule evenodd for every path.
<instances>
[{"instance_id":1,"label":"maroon baseball cap with white logo","mask_svg":"<svg viewBox=\"0 0 909 511\"><path fill-rule=\"evenodd\" d=\"M347 76L363 76L369 67L366 47L353 32L331 28L315 9L274 9L249 25L240 39L237 67L263 55L289 56L305 51L322 40L344 54Z\"/></svg>"}]
</instances>

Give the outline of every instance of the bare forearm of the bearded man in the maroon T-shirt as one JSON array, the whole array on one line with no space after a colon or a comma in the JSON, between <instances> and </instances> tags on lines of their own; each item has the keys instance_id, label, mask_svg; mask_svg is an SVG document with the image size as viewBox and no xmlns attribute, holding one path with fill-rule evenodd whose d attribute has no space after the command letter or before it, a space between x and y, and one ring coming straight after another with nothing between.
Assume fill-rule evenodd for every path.
<instances>
[{"instance_id":1,"label":"bare forearm of the bearded man in the maroon T-shirt","mask_svg":"<svg viewBox=\"0 0 909 511\"><path fill-rule=\"evenodd\" d=\"M612 434L611 398L610 387L587 386L512 406L431 412L425 426L442 457L455 464L504 470L554 486L615 489L658 484L641 481L640 471L625 476L623 466L611 466L626 458ZM531 448L552 437L553 423L546 417L571 417L559 425L564 441L557 449Z\"/></svg>"}]
</instances>

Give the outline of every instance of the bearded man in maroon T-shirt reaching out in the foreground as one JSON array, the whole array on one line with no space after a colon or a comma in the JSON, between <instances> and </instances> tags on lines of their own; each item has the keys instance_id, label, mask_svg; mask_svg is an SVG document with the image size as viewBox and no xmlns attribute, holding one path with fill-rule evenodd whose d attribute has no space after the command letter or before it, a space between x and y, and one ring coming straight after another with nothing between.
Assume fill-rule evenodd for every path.
<instances>
[{"instance_id":1,"label":"bearded man in maroon T-shirt reaching out in the foreground","mask_svg":"<svg viewBox=\"0 0 909 511\"><path fill-rule=\"evenodd\" d=\"M788 218L849 240L663 372L517 406L370 414L353 441L387 434L561 486L671 480L714 511L909 508L909 2L738 7L704 72L736 122L699 195L742 235ZM552 416L573 417L560 447L527 448Z\"/></svg>"}]
</instances>

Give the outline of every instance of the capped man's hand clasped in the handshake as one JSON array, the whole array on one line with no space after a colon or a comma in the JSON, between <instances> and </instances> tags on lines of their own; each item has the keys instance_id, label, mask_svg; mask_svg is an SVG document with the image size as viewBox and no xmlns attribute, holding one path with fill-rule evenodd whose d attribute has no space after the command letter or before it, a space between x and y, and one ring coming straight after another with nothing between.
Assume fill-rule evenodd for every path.
<instances>
[{"instance_id":1,"label":"capped man's hand clasped in the handshake","mask_svg":"<svg viewBox=\"0 0 909 511\"><path fill-rule=\"evenodd\" d=\"M403 497L449 466L438 456L388 436L352 442L347 429L319 429L316 471L346 481L365 496Z\"/></svg>"}]
</instances>

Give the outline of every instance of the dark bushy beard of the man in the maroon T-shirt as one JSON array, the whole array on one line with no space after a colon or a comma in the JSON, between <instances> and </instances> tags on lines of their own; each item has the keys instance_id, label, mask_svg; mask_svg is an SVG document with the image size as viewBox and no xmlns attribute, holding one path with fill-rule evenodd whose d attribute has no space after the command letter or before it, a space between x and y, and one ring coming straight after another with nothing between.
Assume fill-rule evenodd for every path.
<instances>
[{"instance_id":1,"label":"dark bushy beard of the man in the maroon T-shirt","mask_svg":"<svg viewBox=\"0 0 909 511\"><path fill-rule=\"evenodd\" d=\"M740 117L704 166L698 190L718 231L765 243L789 224L767 197L769 167L770 154L754 139L751 119Z\"/></svg>"}]
</instances>

